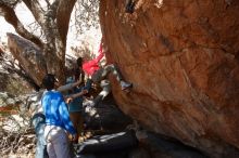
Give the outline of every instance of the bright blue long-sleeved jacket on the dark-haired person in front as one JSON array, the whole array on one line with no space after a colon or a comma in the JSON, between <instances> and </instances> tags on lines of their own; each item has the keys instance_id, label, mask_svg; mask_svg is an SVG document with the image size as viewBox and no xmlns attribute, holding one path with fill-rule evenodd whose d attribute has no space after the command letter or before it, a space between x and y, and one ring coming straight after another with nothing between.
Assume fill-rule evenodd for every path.
<instances>
[{"instance_id":1,"label":"bright blue long-sleeved jacket on the dark-haired person in front","mask_svg":"<svg viewBox=\"0 0 239 158\"><path fill-rule=\"evenodd\" d=\"M76 134L76 130L70 119L67 105L62 94L58 91L47 91L41 100L46 124L65 129L71 134Z\"/></svg>"}]
</instances>

